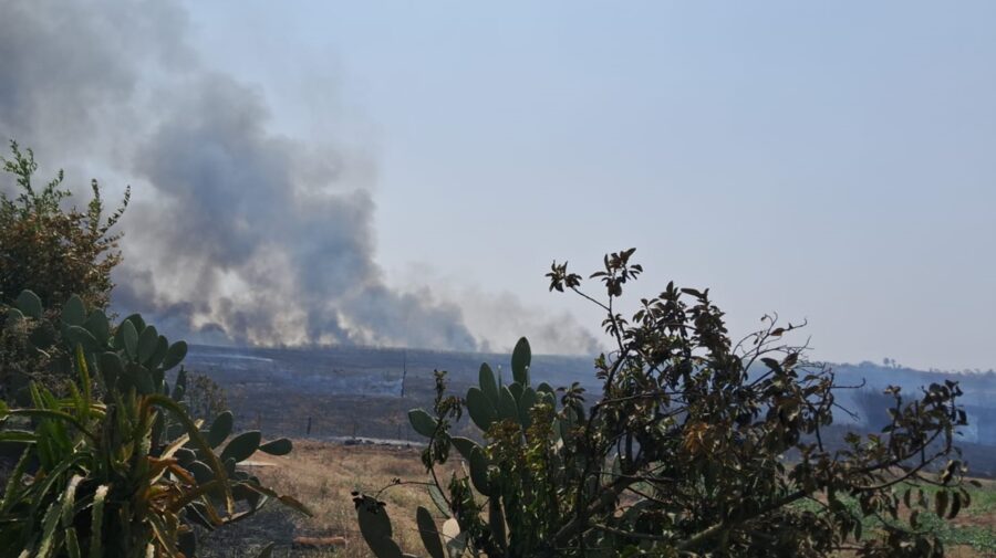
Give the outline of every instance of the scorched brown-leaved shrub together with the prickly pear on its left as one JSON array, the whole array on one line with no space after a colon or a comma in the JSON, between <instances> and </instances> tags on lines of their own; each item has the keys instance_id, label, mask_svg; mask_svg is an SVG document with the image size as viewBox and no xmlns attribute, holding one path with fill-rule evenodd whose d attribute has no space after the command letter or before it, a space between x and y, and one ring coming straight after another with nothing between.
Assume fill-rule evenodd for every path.
<instances>
[{"instance_id":1,"label":"scorched brown-leaved shrub together with the prickly pear on its left","mask_svg":"<svg viewBox=\"0 0 996 558\"><path fill-rule=\"evenodd\" d=\"M957 385L933 385L911 402L890 388L884 433L831 440L839 388L805 347L781 340L797 326L766 317L734 343L708 291L673 283L624 317L623 287L643 271L633 252L605 256L591 275L605 287L601 301L567 264L554 262L548 275L551 291L605 310L614 346L595 360L598 398L585 400L577 383L533 388L521 339L512 383L499 386L484 365L479 387L457 398L439 373L432 412L409 413L429 440L422 459L446 518L439 528L417 510L433 558L943 555L917 515L954 517L967 503L963 463L948 460L954 428L965 422ZM449 433L464 411L483 444ZM440 480L454 449L467 473ZM930 502L916 491L924 484L937 487ZM383 503L354 503L374 554L403 556ZM905 520L904 506L913 509Z\"/></svg>"}]
</instances>

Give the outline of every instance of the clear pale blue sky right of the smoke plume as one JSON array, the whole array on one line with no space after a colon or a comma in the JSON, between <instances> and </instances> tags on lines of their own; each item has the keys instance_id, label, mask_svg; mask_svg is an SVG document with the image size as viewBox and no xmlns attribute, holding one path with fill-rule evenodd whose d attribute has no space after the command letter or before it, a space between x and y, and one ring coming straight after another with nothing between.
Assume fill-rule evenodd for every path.
<instances>
[{"instance_id":1,"label":"clear pale blue sky right of the smoke plume","mask_svg":"<svg viewBox=\"0 0 996 558\"><path fill-rule=\"evenodd\" d=\"M394 285L594 326L542 274L632 245L639 294L710 286L735 331L996 366L992 2L189 6L276 127L373 161Z\"/></svg>"}]
</instances>

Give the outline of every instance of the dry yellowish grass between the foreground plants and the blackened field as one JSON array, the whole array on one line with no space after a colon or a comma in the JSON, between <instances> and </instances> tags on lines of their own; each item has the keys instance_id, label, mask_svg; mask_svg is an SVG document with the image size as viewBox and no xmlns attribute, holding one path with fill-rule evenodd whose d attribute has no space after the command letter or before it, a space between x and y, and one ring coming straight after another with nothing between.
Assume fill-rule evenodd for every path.
<instances>
[{"instance_id":1,"label":"dry yellowish grass between the foreground plants and the blackened field","mask_svg":"<svg viewBox=\"0 0 996 558\"><path fill-rule=\"evenodd\" d=\"M395 478L424 481L417 448L383 445L338 445L309 440L294 442L294 451L286 457L262 456L256 473L283 494L292 494L304 502L314 517L304 517L270 505L266 512L230 529L209 534L201 539L207 548L204 556L227 558L253 556L251 548L276 541L277 557L335 556L359 558L372 556L356 530L355 512L350 493L367 494L391 485ZM972 488L972 505L953 523L945 523L931 514L923 514L924 528L941 535L947 556L955 558L996 557L996 482L983 481ZM396 485L384 491L380 498L387 503L394 524L395 538L403 550L424 555L415 529L415 507L433 504L422 485ZM874 528L873 522L865 531ZM321 550L293 547L294 537L343 537L345 545Z\"/></svg>"}]
</instances>

